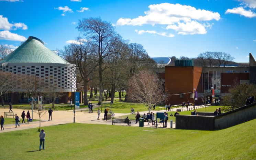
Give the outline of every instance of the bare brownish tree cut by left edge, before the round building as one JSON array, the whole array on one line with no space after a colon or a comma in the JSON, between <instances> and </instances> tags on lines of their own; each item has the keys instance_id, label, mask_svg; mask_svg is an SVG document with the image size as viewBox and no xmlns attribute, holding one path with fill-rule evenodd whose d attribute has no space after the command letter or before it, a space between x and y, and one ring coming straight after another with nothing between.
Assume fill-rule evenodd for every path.
<instances>
[{"instance_id":1,"label":"bare brownish tree cut by left edge, before the round building","mask_svg":"<svg viewBox=\"0 0 256 160\"><path fill-rule=\"evenodd\" d=\"M8 92L13 91L17 84L19 84L19 81L19 77L13 73L0 71L0 97L2 106L4 105L3 96Z\"/></svg>"}]
</instances>

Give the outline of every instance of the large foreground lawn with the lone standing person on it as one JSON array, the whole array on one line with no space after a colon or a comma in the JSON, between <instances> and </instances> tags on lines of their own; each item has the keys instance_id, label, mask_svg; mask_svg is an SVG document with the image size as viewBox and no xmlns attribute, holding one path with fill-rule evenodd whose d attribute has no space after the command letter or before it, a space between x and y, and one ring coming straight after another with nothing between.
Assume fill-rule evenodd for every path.
<instances>
[{"instance_id":1,"label":"large foreground lawn with the lone standing person on it","mask_svg":"<svg viewBox=\"0 0 256 160\"><path fill-rule=\"evenodd\" d=\"M224 130L70 123L1 133L1 159L255 159L256 119ZM17 147L16 147L17 146ZM15 148L15 149L14 149Z\"/></svg>"}]
</instances>

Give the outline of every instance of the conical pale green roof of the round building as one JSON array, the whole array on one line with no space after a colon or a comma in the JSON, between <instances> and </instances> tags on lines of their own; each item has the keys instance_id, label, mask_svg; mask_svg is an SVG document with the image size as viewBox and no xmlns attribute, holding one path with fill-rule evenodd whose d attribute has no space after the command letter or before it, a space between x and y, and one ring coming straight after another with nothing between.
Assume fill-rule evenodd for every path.
<instances>
[{"instance_id":1,"label":"conical pale green roof of the round building","mask_svg":"<svg viewBox=\"0 0 256 160\"><path fill-rule=\"evenodd\" d=\"M22 45L2 59L0 63L58 63L69 64L65 59L44 46L44 42L30 36Z\"/></svg>"}]
</instances>

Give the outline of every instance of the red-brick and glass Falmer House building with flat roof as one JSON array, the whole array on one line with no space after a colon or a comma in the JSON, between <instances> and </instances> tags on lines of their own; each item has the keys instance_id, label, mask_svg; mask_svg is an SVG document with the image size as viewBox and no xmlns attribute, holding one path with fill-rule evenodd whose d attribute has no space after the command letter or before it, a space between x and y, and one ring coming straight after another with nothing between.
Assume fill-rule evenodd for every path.
<instances>
[{"instance_id":1,"label":"red-brick and glass Falmer House building with flat roof","mask_svg":"<svg viewBox=\"0 0 256 160\"><path fill-rule=\"evenodd\" d=\"M166 103L171 105L193 102L195 92L198 93L195 103L201 104L202 97L213 99L212 89L214 97L221 97L234 83L256 84L256 62L251 53L249 67L197 67L192 62L178 64L165 66L163 72L158 72L159 77L165 79L166 92L170 95Z\"/></svg>"}]
</instances>

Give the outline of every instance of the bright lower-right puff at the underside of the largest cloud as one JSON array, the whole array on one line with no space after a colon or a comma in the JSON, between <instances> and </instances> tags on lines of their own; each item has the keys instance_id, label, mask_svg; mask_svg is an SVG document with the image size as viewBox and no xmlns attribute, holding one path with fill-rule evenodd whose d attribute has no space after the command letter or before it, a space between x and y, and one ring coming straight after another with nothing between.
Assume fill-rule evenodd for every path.
<instances>
[{"instance_id":1,"label":"bright lower-right puff at the underside of the largest cloud","mask_svg":"<svg viewBox=\"0 0 256 160\"><path fill-rule=\"evenodd\" d=\"M186 23L178 22L178 25L168 25L166 29L174 29L181 35L194 35L194 34L206 34L205 26L197 21L191 21Z\"/></svg>"}]
</instances>

